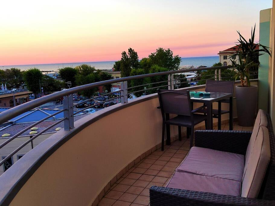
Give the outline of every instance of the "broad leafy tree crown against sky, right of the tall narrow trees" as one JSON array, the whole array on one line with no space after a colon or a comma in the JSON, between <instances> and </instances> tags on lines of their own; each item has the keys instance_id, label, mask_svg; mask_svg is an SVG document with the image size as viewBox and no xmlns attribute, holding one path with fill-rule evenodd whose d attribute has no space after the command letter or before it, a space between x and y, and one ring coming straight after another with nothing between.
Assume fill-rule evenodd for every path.
<instances>
[{"instance_id":1,"label":"broad leafy tree crown against sky, right of the tall narrow trees","mask_svg":"<svg viewBox=\"0 0 275 206\"><path fill-rule=\"evenodd\" d=\"M149 58L152 61L152 65L158 65L170 70L177 70L180 67L181 57L179 55L173 56L173 52L170 49L158 48L156 52L151 53Z\"/></svg>"}]
</instances>

